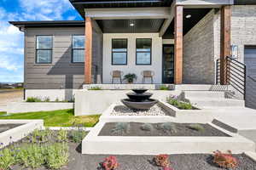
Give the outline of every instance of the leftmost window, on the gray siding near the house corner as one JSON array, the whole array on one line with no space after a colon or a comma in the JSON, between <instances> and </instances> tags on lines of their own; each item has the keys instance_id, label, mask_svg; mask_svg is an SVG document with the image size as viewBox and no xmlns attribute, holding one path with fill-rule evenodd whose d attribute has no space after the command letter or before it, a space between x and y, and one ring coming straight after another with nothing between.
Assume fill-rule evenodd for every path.
<instances>
[{"instance_id":1,"label":"leftmost window, on the gray siding near the house corner","mask_svg":"<svg viewBox=\"0 0 256 170\"><path fill-rule=\"evenodd\" d=\"M52 62L52 36L37 36L37 59L38 64Z\"/></svg>"}]
</instances>

